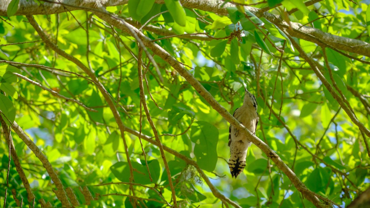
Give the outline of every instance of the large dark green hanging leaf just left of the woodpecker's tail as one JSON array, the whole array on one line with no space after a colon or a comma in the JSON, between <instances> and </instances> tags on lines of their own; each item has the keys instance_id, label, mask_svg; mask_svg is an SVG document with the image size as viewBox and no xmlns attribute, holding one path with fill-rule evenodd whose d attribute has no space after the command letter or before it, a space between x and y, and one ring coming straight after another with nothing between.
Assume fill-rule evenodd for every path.
<instances>
[{"instance_id":1,"label":"large dark green hanging leaf just left of the woodpecker's tail","mask_svg":"<svg viewBox=\"0 0 370 208\"><path fill-rule=\"evenodd\" d=\"M215 170L218 129L206 121L197 121L191 126L190 137L195 143L194 155L199 167L208 172Z\"/></svg>"}]
</instances>

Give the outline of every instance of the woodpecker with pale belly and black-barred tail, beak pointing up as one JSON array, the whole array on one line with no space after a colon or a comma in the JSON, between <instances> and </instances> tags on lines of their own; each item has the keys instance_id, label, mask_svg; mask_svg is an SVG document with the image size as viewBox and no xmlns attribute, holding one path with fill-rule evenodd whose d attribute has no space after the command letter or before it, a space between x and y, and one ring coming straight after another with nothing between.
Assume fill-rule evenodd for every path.
<instances>
[{"instance_id":1,"label":"woodpecker with pale belly and black-barred tail, beak pointing up","mask_svg":"<svg viewBox=\"0 0 370 208\"><path fill-rule=\"evenodd\" d=\"M236 108L233 116L243 124L253 135L256 134L258 124L257 101L256 97L250 93L246 87L243 105ZM229 128L229 144L230 160L229 168L231 177L236 178L245 168L245 158L247 156L248 147L252 143L247 139L247 136L240 133L235 127L230 124Z\"/></svg>"}]
</instances>

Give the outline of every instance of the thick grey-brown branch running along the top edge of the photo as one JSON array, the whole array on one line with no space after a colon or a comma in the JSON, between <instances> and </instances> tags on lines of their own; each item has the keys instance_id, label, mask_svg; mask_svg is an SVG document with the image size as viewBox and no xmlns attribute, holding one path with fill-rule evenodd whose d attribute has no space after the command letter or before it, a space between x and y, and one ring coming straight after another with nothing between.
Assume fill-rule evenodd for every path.
<instances>
[{"instance_id":1,"label":"thick grey-brown branch running along the top edge of the photo","mask_svg":"<svg viewBox=\"0 0 370 208\"><path fill-rule=\"evenodd\" d=\"M8 4L11 0L2 0L2 4L0 4L0 16L7 16L6 10ZM108 6L118 6L127 4L128 0L101 0L101 1L94 1L94 0L64 0L62 4L50 4L44 3L38 6L34 1L27 1L27 0L20 0L19 8L17 10L16 15L35 15L35 14L55 14L55 13L62 13L66 11L74 11L80 10L85 8L95 9L97 7L108 7ZM164 3L163 0L156 0L155 3L162 4ZM226 7L235 7L232 3L224 4L224 1L221 0L181 0L181 3L184 7L189 7L193 9L200 9L204 11L211 11L221 15L226 16L228 11L225 9ZM65 6L65 4L73 5L73 7ZM221 7L224 5L223 7ZM84 7L84 8L78 8ZM347 37L335 36L329 33L324 33L323 31L303 26L300 23L290 22L290 24L286 23L284 20L280 18L279 15L270 14L267 12L259 12L258 8L255 7L245 7L247 10L252 12L258 17L265 17L270 22L278 25L278 26L289 26L293 29L297 29L302 31L303 33L310 34L319 38L320 40L330 44L331 46L338 48L339 50L349 51L351 53L361 54L367 57L370 57L370 44L366 43L361 40L356 40ZM68 9L68 10L67 10ZM289 31L291 36L301 38L303 40L312 41L316 44L319 44L318 41L310 40L309 37L297 33L293 30Z\"/></svg>"}]
</instances>

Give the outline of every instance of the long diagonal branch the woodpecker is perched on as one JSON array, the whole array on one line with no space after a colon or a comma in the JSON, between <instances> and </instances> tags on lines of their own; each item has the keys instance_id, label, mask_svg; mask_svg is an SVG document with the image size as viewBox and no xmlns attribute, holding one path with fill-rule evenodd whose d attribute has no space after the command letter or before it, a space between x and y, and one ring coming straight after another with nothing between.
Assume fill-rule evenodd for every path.
<instances>
[{"instance_id":1,"label":"long diagonal branch the woodpecker is perched on","mask_svg":"<svg viewBox=\"0 0 370 208\"><path fill-rule=\"evenodd\" d=\"M321 207L319 199L310 193L309 189L303 184L302 181L299 180L299 178L294 174L292 170L280 159L279 155L277 155L274 151L271 150L271 148L266 145L263 141L261 141L258 137L253 136L248 129L243 127L237 121L224 107L222 107L215 98L212 97L212 95L199 83L198 80L195 79L195 77L186 70L181 63L175 60L167 51L165 51L163 48L158 46L157 44L153 43L150 38L146 37L141 31L139 31L137 28L131 26L130 24L117 20L116 18L110 16L109 14L100 13L100 12L94 12L95 15L97 15L100 19L106 21L107 23L118 27L120 30L127 32L128 34L131 34L131 31L134 30L135 33L141 38L141 41L145 44L146 47L150 48L154 54L161 57L164 61L166 61L170 66L172 66L176 71L178 71L179 74L181 74L182 77L188 81L189 84L192 85L192 87L195 88L195 90L203 97L205 100L212 106L213 109L215 109L219 114L222 115L222 117L225 118L226 121L231 123L233 126L235 126L239 131L242 132L242 134L247 135L249 141L252 141L253 144L255 144L257 147L259 147L265 154L271 158L272 161L275 162L276 166L282 170L286 176L292 181L293 185L297 188L298 191L302 192L302 194L311 201L316 207ZM134 36L134 34L131 34Z\"/></svg>"}]
</instances>

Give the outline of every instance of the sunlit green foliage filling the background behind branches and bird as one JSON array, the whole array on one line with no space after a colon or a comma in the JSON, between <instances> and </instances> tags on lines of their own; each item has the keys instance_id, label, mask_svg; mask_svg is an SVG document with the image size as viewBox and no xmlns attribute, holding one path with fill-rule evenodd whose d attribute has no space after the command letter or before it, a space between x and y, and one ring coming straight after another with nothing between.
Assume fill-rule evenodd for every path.
<instances>
[{"instance_id":1,"label":"sunlit green foliage filling the background behind branches and bird","mask_svg":"<svg viewBox=\"0 0 370 208\"><path fill-rule=\"evenodd\" d=\"M267 1L253 7L273 7L280 2ZM283 6L269 12L285 14L283 8L287 11L297 8L289 16L290 21L369 43L366 1L355 2L357 4L328 0L306 7L303 1L285 0ZM348 205L369 187L369 149L364 143L369 137L361 134L351 122L307 62L296 49L293 50L291 41L280 28L248 11L243 14L240 4L236 5L228 8L228 16L183 8L179 1L172 0L165 0L165 4L157 4L154 0L129 0L128 4L107 10L137 28L154 17L142 32L181 62L230 113L242 104L242 83L246 83L258 101L260 122L256 136L280 156L307 188L339 205ZM155 16L167 10L169 12ZM117 101L115 104L124 125L137 131L142 125L143 136L154 137L145 112L141 113L135 38L83 9L34 17L53 43L94 71L112 99ZM80 204L84 204L85 198L78 187L87 186L95 197L90 202L94 207L144 207L144 204L165 207L164 199L172 204L159 148L142 140L153 179L150 181L137 135L125 132L128 146L125 152L117 122L95 84L68 72L87 75L40 41L25 16L12 16L7 21L6 17L2 18L0 59L41 66L0 63L1 116L15 120L31 137L53 165L64 187L71 187ZM240 33L235 33L238 28ZM197 34L163 38L184 33ZM163 39L156 40L158 38ZM329 48L323 49L310 41L295 40L321 66L321 72L332 83L324 63L324 56L327 56L337 86L358 120L369 128L370 117L366 110L370 97L369 64ZM275 46L284 51L282 57ZM153 54L150 50L149 53ZM369 61L369 57L347 54ZM145 53L142 58L147 79L147 82L144 80L144 93L163 145L195 161L221 194L241 207L313 207L255 145L248 150L246 170L236 180L232 179L226 162L229 124L166 61L155 54L153 57L159 70L152 63L147 65L149 59ZM13 73L20 73L98 112L57 98ZM363 96L367 106L354 92ZM36 205L39 199L44 199L53 206L60 206L52 191L54 184L41 162L14 132L12 135L36 196ZM0 138L0 201L4 200L8 188L6 207L16 207L11 189L16 189L16 198L23 198L24 203L27 195L13 162L9 186L6 184L9 149L5 138ZM132 197L124 196L132 196L129 184L107 184L130 182L125 154L129 155L134 168L136 184L132 189L137 197L143 198L136 201L138 205ZM212 194L192 164L169 152L165 152L165 157L181 207L222 206L222 201ZM107 185L95 186L98 184ZM140 184L154 187L164 199ZM156 201L146 200L148 198Z\"/></svg>"}]
</instances>

